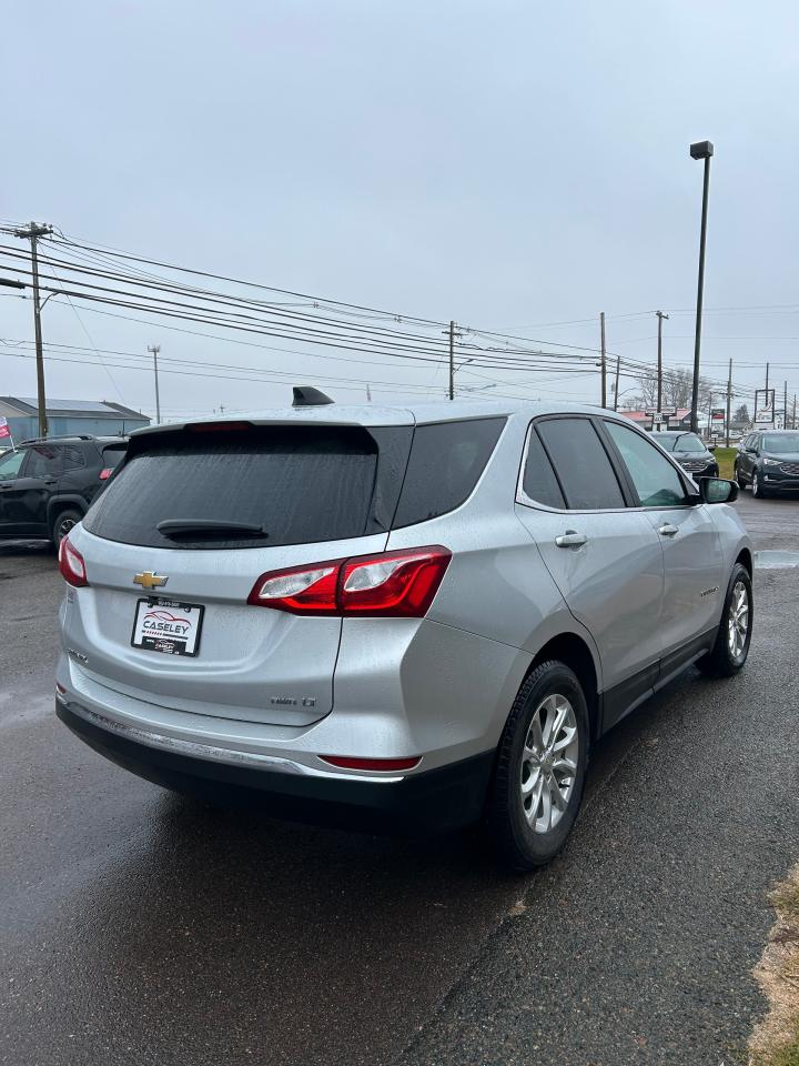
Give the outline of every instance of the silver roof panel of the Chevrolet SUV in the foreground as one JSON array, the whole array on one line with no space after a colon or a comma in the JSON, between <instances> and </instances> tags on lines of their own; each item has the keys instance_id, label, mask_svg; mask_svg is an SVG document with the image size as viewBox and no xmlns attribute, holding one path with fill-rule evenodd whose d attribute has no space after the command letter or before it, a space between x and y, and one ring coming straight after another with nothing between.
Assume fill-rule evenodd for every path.
<instances>
[{"instance_id":1,"label":"silver roof panel of the Chevrolet SUV in the foreground","mask_svg":"<svg viewBox=\"0 0 799 1066\"><path fill-rule=\"evenodd\" d=\"M307 425L414 425L432 422L462 421L464 419L489 419L519 414L535 418L539 414L597 414L601 409L580 403L554 403L549 401L517 400L442 400L427 403L403 403L396 406L382 406L374 403L343 404L327 403L317 406L273 408L265 411L237 412L212 419L196 419L191 422L170 422L133 430L131 436L139 438L169 430L181 430L188 425L252 422L307 424ZM624 421L624 415L614 411Z\"/></svg>"}]
</instances>

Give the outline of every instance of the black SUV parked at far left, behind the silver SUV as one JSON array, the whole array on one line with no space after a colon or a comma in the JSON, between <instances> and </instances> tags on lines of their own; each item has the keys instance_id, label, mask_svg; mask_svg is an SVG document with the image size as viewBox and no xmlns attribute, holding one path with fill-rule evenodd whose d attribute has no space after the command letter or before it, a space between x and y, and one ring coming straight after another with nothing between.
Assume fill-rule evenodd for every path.
<instances>
[{"instance_id":1,"label":"black SUV parked at far left, behind the silver SUV","mask_svg":"<svg viewBox=\"0 0 799 1066\"><path fill-rule=\"evenodd\" d=\"M58 546L127 446L121 436L51 436L0 455L0 540L42 537Z\"/></svg>"}]
</instances>

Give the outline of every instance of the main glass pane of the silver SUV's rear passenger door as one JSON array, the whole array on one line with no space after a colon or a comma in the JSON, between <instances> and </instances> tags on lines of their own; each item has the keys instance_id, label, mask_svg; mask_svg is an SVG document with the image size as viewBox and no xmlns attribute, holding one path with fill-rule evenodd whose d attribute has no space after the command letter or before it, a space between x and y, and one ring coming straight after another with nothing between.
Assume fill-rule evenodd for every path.
<instances>
[{"instance_id":1,"label":"main glass pane of the silver SUV's rear passenger door","mask_svg":"<svg viewBox=\"0 0 799 1066\"><path fill-rule=\"evenodd\" d=\"M599 434L588 419L537 423L558 481L573 511L624 507L625 499Z\"/></svg>"}]
</instances>

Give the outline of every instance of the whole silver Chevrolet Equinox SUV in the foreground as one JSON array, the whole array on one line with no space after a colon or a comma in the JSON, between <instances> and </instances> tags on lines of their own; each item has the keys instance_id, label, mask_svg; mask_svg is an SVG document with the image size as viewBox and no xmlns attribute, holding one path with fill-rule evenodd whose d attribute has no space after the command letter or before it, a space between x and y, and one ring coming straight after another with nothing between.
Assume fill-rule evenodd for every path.
<instances>
[{"instance_id":1,"label":"whole silver Chevrolet Equinox SUV in the foreground","mask_svg":"<svg viewBox=\"0 0 799 1066\"><path fill-rule=\"evenodd\" d=\"M168 787L545 863L597 737L744 665L737 486L593 408L325 401L131 436L61 545L58 714Z\"/></svg>"}]
</instances>

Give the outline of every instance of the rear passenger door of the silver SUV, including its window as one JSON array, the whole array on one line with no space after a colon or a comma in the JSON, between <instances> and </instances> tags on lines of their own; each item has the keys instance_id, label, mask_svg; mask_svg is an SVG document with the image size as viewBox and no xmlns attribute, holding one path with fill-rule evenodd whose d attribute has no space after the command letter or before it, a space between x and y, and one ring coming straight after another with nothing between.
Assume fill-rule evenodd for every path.
<instances>
[{"instance_id":1,"label":"rear passenger door of the silver SUV, including its window","mask_svg":"<svg viewBox=\"0 0 799 1066\"><path fill-rule=\"evenodd\" d=\"M530 426L517 513L569 610L591 633L605 688L616 690L623 708L656 677L664 590L657 534L629 510L626 492L590 418Z\"/></svg>"}]
</instances>

